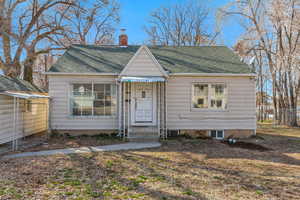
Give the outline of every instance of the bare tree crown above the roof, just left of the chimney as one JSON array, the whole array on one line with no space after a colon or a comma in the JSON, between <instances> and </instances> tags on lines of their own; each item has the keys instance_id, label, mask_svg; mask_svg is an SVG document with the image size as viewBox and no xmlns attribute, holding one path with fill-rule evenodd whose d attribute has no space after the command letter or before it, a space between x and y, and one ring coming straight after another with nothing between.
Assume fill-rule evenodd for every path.
<instances>
[{"instance_id":1,"label":"bare tree crown above the roof, just left of the chimney","mask_svg":"<svg viewBox=\"0 0 300 200\"><path fill-rule=\"evenodd\" d=\"M65 44L111 44L119 22L119 4L114 0L79 2L64 15L68 27ZM61 12L65 12L61 9Z\"/></svg>"}]
</instances>

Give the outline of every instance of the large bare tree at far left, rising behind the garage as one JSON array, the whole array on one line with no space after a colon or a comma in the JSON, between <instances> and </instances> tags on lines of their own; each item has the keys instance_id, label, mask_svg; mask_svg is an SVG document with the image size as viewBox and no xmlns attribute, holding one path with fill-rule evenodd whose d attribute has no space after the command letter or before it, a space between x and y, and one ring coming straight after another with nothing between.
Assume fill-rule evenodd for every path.
<instances>
[{"instance_id":1,"label":"large bare tree at far left, rising behind the garage","mask_svg":"<svg viewBox=\"0 0 300 200\"><path fill-rule=\"evenodd\" d=\"M37 1L15 0L1 1L1 67L9 76L21 72L22 57L24 62L32 63L40 52L50 51L57 47L36 49L41 41L52 39L54 35L63 34L63 27L57 23L57 17L51 16L58 5L72 6L69 0ZM28 74L25 67L25 74ZM30 80L29 77L25 79Z\"/></svg>"}]
</instances>

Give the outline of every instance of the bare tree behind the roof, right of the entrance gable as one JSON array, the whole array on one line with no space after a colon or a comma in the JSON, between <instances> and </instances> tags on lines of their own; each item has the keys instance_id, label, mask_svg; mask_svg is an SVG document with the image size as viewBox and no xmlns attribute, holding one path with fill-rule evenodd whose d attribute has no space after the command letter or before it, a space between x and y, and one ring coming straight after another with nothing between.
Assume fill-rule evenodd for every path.
<instances>
[{"instance_id":1,"label":"bare tree behind the roof, right of the entrance gable","mask_svg":"<svg viewBox=\"0 0 300 200\"><path fill-rule=\"evenodd\" d=\"M207 31L208 9L196 1L162 7L151 13L145 27L153 45L199 46L213 44L219 32Z\"/></svg>"}]
</instances>

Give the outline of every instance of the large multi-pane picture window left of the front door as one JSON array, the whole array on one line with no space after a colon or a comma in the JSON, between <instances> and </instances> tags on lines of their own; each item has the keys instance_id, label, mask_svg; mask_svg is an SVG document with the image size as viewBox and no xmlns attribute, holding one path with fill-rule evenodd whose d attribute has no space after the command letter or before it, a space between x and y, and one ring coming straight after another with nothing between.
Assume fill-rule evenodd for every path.
<instances>
[{"instance_id":1,"label":"large multi-pane picture window left of the front door","mask_svg":"<svg viewBox=\"0 0 300 200\"><path fill-rule=\"evenodd\" d=\"M73 116L111 116L116 113L116 85L76 83L72 85Z\"/></svg>"}]
</instances>

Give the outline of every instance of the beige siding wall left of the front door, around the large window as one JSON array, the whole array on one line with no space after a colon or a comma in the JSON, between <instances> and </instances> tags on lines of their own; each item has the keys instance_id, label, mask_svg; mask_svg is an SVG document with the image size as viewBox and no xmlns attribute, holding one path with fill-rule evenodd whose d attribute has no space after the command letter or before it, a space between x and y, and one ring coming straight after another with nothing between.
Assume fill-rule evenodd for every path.
<instances>
[{"instance_id":1,"label":"beige siding wall left of the front door, around the large window","mask_svg":"<svg viewBox=\"0 0 300 200\"><path fill-rule=\"evenodd\" d=\"M69 95L72 83L116 83L117 76L49 76L52 130L117 129L116 116L72 116Z\"/></svg>"}]
</instances>

